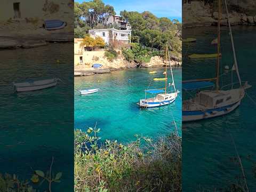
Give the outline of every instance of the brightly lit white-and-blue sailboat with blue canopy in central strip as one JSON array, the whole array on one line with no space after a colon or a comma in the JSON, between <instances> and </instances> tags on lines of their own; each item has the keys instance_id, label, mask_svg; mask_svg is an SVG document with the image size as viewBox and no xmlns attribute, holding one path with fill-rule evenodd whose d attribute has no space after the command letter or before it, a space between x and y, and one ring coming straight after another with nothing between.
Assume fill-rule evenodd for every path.
<instances>
[{"instance_id":1,"label":"brightly lit white-and-blue sailboat with blue canopy in central strip","mask_svg":"<svg viewBox=\"0 0 256 192\"><path fill-rule=\"evenodd\" d=\"M140 107L147 108L147 107L164 106L164 105L168 105L168 104L172 103L177 98L179 90L176 90L176 88L175 88L169 49L168 49L168 46L166 45L166 60L167 60L167 55L169 57L170 69L171 69L171 75L172 75L172 84L171 85L174 88L174 92L167 93L167 64L166 64L165 72L164 72L165 87L163 89L145 90L145 99L141 99L140 102L137 103ZM153 98L147 98L147 95L146 95L147 93L156 94L156 96Z\"/></svg>"}]
</instances>

